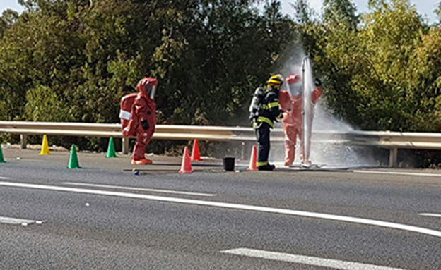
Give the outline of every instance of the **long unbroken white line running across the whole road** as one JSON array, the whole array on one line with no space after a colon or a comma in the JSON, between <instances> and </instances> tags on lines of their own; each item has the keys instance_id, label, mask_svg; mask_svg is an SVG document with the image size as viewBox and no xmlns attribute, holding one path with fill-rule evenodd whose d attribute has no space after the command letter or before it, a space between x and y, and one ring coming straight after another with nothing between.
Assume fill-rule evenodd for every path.
<instances>
[{"instance_id":1,"label":"long unbroken white line running across the whole road","mask_svg":"<svg viewBox=\"0 0 441 270\"><path fill-rule=\"evenodd\" d=\"M162 197L162 196L143 195L136 193L115 192L115 191L107 191L107 190L87 190L84 188L67 188L67 187L59 187L54 185L35 185L28 183L12 183L12 182L0 182L0 185L7 187L17 187L17 188L35 188L39 190L57 190L57 191L76 192L76 193L93 194L93 195L107 195L107 196L116 196L116 197L136 198L136 199L154 200L160 202L176 202L180 204L195 204L195 205L202 205L207 207L222 207L228 209L260 211L260 212L272 213L272 214L286 214L290 216L305 216L315 219L329 219L333 221L344 221L350 223L380 226L384 228L394 228L397 230L411 231L414 233L422 233L425 235L432 235L441 238L441 231L435 231L428 228L421 228L417 226L410 226L400 223L377 221L375 219L362 219L351 216L338 216L334 214L321 214L321 213L314 213L308 211L298 211L298 210L280 209L280 208L272 208L272 207L259 207L248 204L212 202L212 201L203 201L203 200L182 199L175 197Z\"/></svg>"}]
</instances>

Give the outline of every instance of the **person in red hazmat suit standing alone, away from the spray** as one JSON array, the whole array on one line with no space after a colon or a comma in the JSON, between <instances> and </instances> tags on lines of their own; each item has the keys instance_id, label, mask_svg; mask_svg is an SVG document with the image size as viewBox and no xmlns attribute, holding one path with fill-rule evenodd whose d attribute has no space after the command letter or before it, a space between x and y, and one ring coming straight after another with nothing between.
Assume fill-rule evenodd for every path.
<instances>
[{"instance_id":1,"label":"person in red hazmat suit standing alone, away from the spray","mask_svg":"<svg viewBox=\"0 0 441 270\"><path fill-rule=\"evenodd\" d=\"M122 135L136 137L136 145L131 156L132 164L152 163L144 154L146 145L155 133L156 104L150 94L157 85L158 80L155 78L143 78L136 85L139 93L127 94L121 99L122 110L119 117L122 123Z\"/></svg>"}]
</instances>

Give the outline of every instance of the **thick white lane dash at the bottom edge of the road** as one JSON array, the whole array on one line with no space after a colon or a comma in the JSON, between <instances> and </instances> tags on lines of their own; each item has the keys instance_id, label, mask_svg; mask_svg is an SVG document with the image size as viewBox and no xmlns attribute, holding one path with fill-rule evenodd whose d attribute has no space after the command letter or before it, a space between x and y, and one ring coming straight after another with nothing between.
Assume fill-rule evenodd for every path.
<instances>
[{"instance_id":1,"label":"thick white lane dash at the bottom edge of the road","mask_svg":"<svg viewBox=\"0 0 441 270\"><path fill-rule=\"evenodd\" d=\"M252 250L249 248L236 248L234 250L223 250L222 253L235 254L259 259L274 259L281 262L293 262L295 264L309 264L314 266L329 267L332 269L344 270L404 270L401 268L391 268L377 266L373 264L361 264L359 262L346 262L338 259L324 259L289 253L271 252L265 250Z\"/></svg>"}]
</instances>

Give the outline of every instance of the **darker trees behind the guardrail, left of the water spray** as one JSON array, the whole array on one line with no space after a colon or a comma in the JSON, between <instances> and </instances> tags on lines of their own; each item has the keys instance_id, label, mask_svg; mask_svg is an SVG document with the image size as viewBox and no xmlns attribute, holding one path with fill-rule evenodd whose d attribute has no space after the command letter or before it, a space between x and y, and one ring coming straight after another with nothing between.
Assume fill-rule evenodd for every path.
<instances>
[{"instance_id":1,"label":"darker trees behind the guardrail, left of the water spray","mask_svg":"<svg viewBox=\"0 0 441 270\"><path fill-rule=\"evenodd\" d=\"M6 120L117 122L120 97L153 75L161 122L234 123L293 37L278 1L263 13L232 0L20 4L1 17Z\"/></svg>"}]
</instances>

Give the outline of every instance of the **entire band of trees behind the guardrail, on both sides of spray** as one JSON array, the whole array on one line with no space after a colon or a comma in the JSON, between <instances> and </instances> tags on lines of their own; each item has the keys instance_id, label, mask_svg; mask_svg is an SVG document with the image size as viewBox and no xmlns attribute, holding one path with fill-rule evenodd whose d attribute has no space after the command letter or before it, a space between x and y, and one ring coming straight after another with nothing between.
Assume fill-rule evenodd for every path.
<instances>
[{"instance_id":1,"label":"entire band of trees behind the guardrail, on both sides of spray","mask_svg":"<svg viewBox=\"0 0 441 270\"><path fill-rule=\"evenodd\" d=\"M243 125L254 88L301 43L330 111L365 129L441 130L440 24L408 0L364 14L324 0L322 16L306 0L291 16L261 2L20 0L23 13L0 17L0 118L117 123L119 99L151 75L160 123Z\"/></svg>"}]
</instances>

